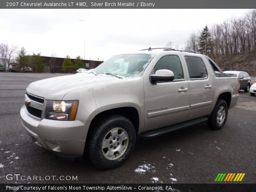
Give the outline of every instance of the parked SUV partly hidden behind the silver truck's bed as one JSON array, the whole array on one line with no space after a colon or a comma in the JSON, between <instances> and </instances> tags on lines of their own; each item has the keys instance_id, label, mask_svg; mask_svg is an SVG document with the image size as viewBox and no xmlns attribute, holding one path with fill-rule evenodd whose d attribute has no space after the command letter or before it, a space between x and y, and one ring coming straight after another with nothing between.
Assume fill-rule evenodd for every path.
<instances>
[{"instance_id":1,"label":"parked SUV partly hidden behind the silver truck's bed","mask_svg":"<svg viewBox=\"0 0 256 192\"><path fill-rule=\"evenodd\" d=\"M224 71L225 74L236 74L240 79L240 90L249 92L251 86L251 78L248 73L244 71Z\"/></svg>"}]
</instances>

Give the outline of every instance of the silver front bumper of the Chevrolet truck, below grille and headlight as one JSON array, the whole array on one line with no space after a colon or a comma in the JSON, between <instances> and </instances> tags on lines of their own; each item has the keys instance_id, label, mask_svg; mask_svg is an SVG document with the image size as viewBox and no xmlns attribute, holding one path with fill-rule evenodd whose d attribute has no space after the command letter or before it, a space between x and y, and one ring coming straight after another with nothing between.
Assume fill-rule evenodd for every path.
<instances>
[{"instance_id":1,"label":"silver front bumper of the Chevrolet truck, below grille and headlight","mask_svg":"<svg viewBox=\"0 0 256 192\"><path fill-rule=\"evenodd\" d=\"M25 106L20 109L21 123L32 140L55 154L82 156L89 128L88 121L61 121L36 118Z\"/></svg>"}]
</instances>

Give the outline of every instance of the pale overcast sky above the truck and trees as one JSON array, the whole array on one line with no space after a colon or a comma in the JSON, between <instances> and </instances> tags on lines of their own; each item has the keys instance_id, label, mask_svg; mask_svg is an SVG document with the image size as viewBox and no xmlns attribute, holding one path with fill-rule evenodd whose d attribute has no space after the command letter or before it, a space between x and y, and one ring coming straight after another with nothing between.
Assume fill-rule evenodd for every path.
<instances>
[{"instance_id":1,"label":"pale overcast sky above the truck and trees","mask_svg":"<svg viewBox=\"0 0 256 192\"><path fill-rule=\"evenodd\" d=\"M243 16L245 9L0 10L0 43L24 46L27 54L80 55L92 60L172 41L179 48L208 24ZM80 21L84 20L84 21Z\"/></svg>"}]
</instances>

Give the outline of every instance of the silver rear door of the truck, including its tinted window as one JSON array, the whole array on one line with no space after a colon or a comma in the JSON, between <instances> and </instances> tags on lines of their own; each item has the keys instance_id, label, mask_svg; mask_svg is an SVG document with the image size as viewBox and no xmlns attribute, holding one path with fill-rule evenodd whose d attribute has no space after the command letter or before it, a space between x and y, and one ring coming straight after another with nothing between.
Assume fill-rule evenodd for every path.
<instances>
[{"instance_id":1,"label":"silver rear door of the truck, including its tinted window","mask_svg":"<svg viewBox=\"0 0 256 192\"><path fill-rule=\"evenodd\" d=\"M188 67L190 89L190 119L202 117L212 112L216 87L212 84L212 77L208 73L212 70L205 58L200 56L185 55ZM204 60L203 60L204 59ZM208 63L207 63L208 64Z\"/></svg>"}]
</instances>

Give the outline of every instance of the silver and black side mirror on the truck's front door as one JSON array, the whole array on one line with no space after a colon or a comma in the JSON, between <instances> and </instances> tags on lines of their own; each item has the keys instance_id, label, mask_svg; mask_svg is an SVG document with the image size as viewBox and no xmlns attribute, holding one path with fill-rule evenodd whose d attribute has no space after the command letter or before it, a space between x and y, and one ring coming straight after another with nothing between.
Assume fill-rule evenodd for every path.
<instances>
[{"instance_id":1,"label":"silver and black side mirror on the truck's front door","mask_svg":"<svg viewBox=\"0 0 256 192\"><path fill-rule=\"evenodd\" d=\"M156 84L156 82L167 82L167 81L173 81L174 80L174 73L171 70L167 69L161 69L157 70L154 75L150 75L150 81L153 84Z\"/></svg>"}]
</instances>

